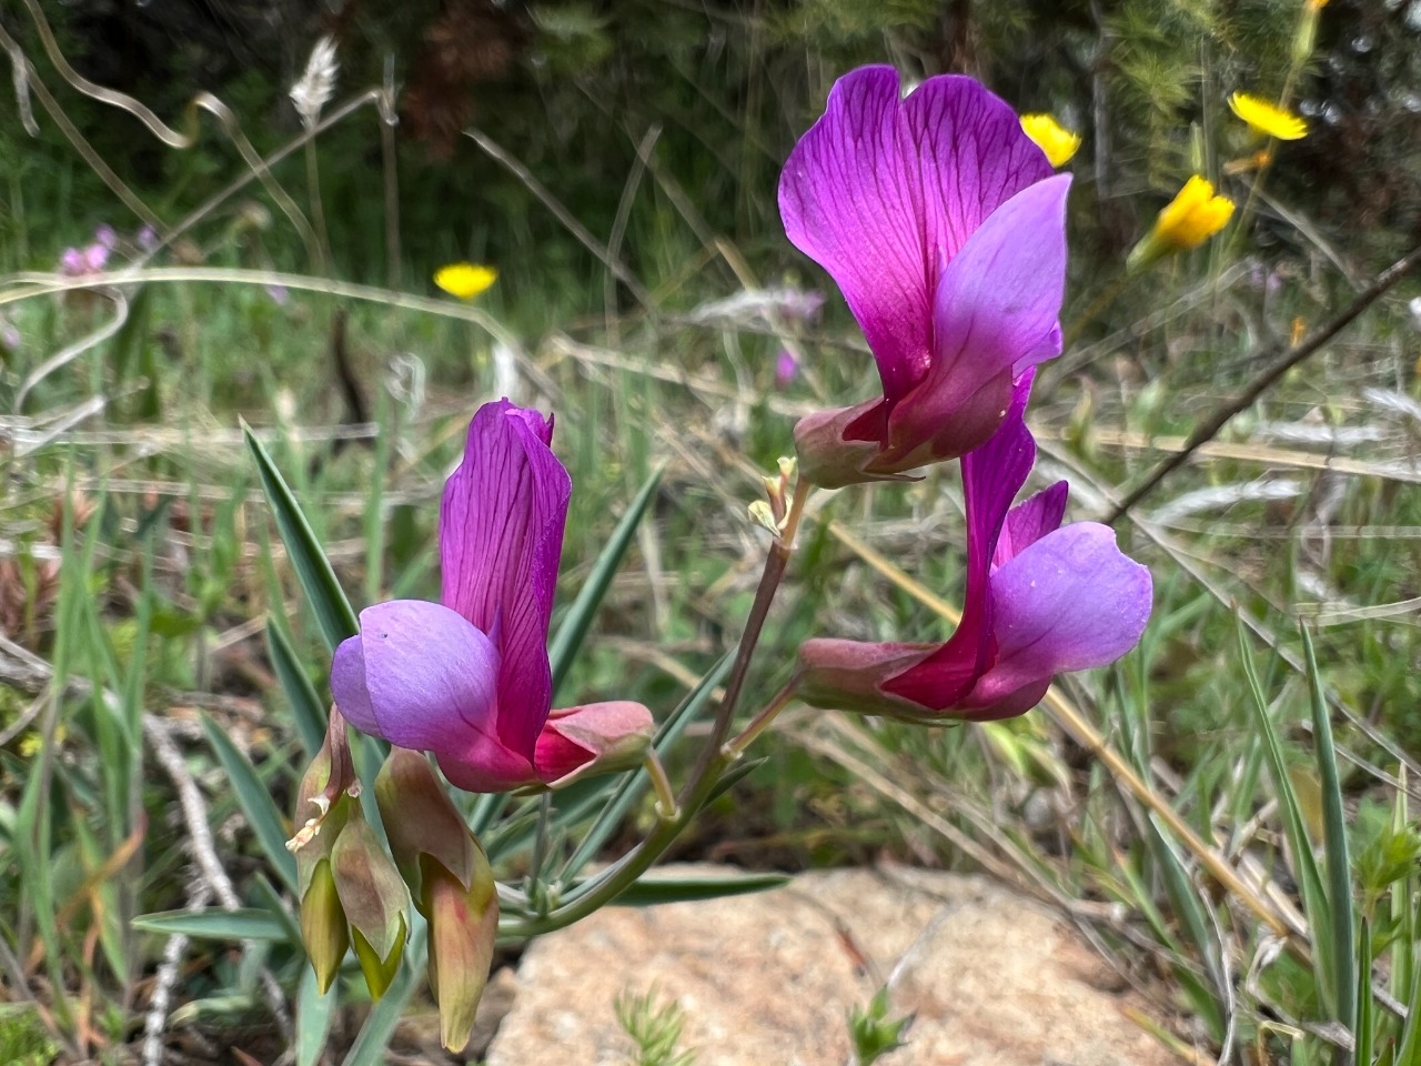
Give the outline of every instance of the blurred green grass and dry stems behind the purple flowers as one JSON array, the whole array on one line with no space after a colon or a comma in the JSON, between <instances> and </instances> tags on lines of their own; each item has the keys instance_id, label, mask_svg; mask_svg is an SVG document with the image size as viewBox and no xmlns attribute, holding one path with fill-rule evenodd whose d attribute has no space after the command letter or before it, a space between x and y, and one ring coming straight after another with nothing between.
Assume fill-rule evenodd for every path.
<instances>
[{"instance_id":1,"label":"blurred green grass and dry stems behind the purple flowers","mask_svg":"<svg viewBox=\"0 0 1421 1066\"><path fill-rule=\"evenodd\" d=\"M1302 0L77 0L43 6L53 41L40 10L0 9L20 70L0 109L6 1062L270 1059L291 1039L298 954L132 924L290 917L288 826L261 813L290 814L310 738L287 692L321 692L327 662L239 418L357 604L432 594L433 500L499 391L557 411L577 485L563 603L666 463L566 688L661 715L737 637L757 470L794 416L874 387L774 206L844 70L968 71L1086 134L1071 344L1033 408L1080 516L1421 239L1417 3L1333 0L1304 63ZM323 33L335 97L277 162ZM1235 90L1290 95L1307 138L1260 171ZM1123 283L1194 172L1239 202L1235 226ZM64 249L101 225L132 279L63 289ZM497 286L436 297L432 270L465 257ZM786 287L828 294L823 320L732 300ZM1418 293L1404 280L1117 524L1158 598L1120 667L990 728L790 712L685 854L985 867L1077 922L1187 1062L1421 1062ZM821 495L757 691L810 632L948 632L959 505L946 472ZM244 802L234 768L276 806ZM362 1021L331 1019L331 1046Z\"/></svg>"}]
</instances>

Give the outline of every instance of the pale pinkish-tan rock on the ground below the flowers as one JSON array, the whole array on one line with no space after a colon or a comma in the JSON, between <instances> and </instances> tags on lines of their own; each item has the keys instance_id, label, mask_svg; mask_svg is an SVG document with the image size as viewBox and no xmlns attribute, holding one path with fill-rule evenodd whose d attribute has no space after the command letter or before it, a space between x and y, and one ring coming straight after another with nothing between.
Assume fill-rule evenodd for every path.
<instances>
[{"instance_id":1,"label":"pale pinkish-tan rock on the ground below the flowers","mask_svg":"<svg viewBox=\"0 0 1421 1066\"><path fill-rule=\"evenodd\" d=\"M698 1066L841 1066L850 1008L895 968L891 1016L915 1021L882 1066L1177 1066L1056 917L980 877L902 868L608 908L543 937L487 1063L634 1062L612 1001L654 992L682 1008Z\"/></svg>"}]
</instances>

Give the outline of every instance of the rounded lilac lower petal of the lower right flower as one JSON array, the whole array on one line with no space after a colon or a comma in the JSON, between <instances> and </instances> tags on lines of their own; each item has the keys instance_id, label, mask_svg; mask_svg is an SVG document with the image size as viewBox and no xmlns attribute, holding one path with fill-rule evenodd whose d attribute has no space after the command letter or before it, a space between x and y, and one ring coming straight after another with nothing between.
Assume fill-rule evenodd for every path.
<instances>
[{"instance_id":1,"label":"rounded lilac lower petal of the lower right flower","mask_svg":"<svg viewBox=\"0 0 1421 1066\"><path fill-rule=\"evenodd\" d=\"M1150 570L1121 554L1108 526L1049 533L992 574L998 658L968 702L1114 662L1140 641L1151 597Z\"/></svg>"}]
</instances>

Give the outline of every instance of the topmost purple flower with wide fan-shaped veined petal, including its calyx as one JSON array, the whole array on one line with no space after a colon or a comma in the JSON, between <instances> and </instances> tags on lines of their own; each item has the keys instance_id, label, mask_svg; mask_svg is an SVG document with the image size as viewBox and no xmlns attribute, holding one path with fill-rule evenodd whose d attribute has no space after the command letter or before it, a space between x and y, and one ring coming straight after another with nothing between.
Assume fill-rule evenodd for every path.
<instances>
[{"instance_id":1,"label":"topmost purple flower with wide fan-shaped veined petal, including its calyx","mask_svg":"<svg viewBox=\"0 0 1421 1066\"><path fill-rule=\"evenodd\" d=\"M881 399L794 428L817 485L901 478L983 443L1012 384L1060 354L1069 175L976 81L890 67L834 85L790 154L780 216L838 283L882 379Z\"/></svg>"}]
</instances>

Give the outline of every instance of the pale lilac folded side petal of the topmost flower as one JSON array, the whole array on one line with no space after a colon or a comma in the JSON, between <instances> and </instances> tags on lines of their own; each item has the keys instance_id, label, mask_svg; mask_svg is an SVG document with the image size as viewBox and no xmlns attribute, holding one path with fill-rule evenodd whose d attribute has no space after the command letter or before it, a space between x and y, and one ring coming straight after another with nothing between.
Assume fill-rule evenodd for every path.
<instances>
[{"instance_id":1,"label":"pale lilac folded side petal of the topmost flower","mask_svg":"<svg viewBox=\"0 0 1421 1066\"><path fill-rule=\"evenodd\" d=\"M996 209L946 264L934 308L932 362L888 418L885 459L931 442L952 459L996 429L1013 378L1060 354L1070 175Z\"/></svg>"}]
</instances>

